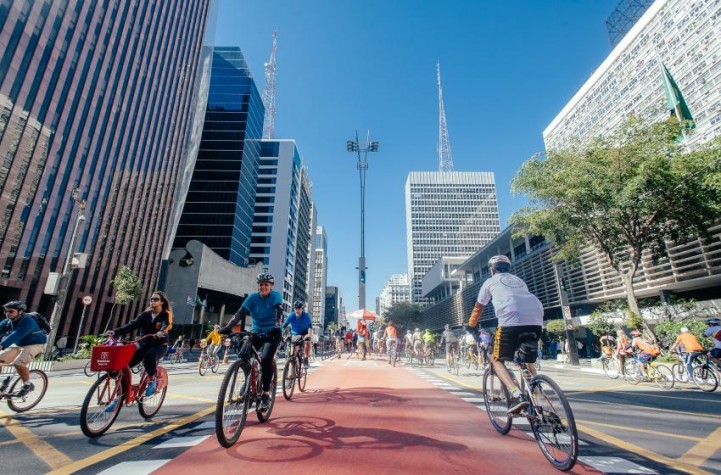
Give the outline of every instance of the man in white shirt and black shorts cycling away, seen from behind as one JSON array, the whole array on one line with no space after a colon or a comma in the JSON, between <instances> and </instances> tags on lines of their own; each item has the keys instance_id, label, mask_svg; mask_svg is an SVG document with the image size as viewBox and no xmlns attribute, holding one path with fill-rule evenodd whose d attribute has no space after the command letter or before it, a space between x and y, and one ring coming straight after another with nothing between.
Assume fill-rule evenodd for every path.
<instances>
[{"instance_id":1,"label":"man in white shirt and black shorts cycling away, seen from behind","mask_svg":"<svg viewBox=\"0 0 721 475\"><path fill-rule=\"evenodd\" d=\"M529 292L526 283L511 274L511 260L506 256L493 256L488 260L491 277L486 279L478 292L478 299L468 320L475 327L486 307L493 301L493 309L498 319L496 338L493 345L491 363L499 379L511 393L508 414L518 414L528 407L528 401L521 394L518 384L511 377L503 361L513 360L516 350L521 346L519 337L528 335L528 341L536 346L543 329L543 304ZM527 362L528 370L535 376L533 362Z\"/></svg>"}]
</instances>

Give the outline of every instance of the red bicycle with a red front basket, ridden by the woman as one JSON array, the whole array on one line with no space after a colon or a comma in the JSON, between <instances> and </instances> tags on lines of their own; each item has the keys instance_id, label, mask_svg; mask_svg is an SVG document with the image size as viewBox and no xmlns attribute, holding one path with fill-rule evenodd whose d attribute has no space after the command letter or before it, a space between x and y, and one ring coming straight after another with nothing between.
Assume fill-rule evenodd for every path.
<instances>
[{"instance_id":1,"label":"red bicycle with a red front basket, ridden by the woman","mask_svg":"<svg viewBox=\"0 0 721 475\"><path fill-rule=\"evenodd\" d=\"M155 338L155 335L138 338L135 343L149 338ZM133 372L129 366L136 345L115 339L106 343L93 347L91 368L103 374L90 386L80 409L80 429L91 438L99 437L110 429L123 405L138 403L141 417L150 419L160 410L168 391L168 372L158 364L156 390L146 396L150 377L145 367L140 371L140 381L133 384Z\"/></svg>"}]
</instances>

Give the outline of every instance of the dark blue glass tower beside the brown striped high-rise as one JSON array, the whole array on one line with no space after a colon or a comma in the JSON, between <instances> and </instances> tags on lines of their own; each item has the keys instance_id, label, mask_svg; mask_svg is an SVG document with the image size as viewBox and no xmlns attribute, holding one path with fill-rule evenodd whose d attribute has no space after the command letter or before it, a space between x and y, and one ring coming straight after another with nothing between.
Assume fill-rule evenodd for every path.
<instances>
[{"instance_id":1,"label":"dark blue glass tower beside the brown striped high-rise","mask_svg":"<svg viewBox=\"0 0 721 475\"><path fill-rule=\"evenodd\" d=\"M236 47L216 47L203 138L173 242L196 239L247 266L265 107Z\"/></svg>"}]
</instances>

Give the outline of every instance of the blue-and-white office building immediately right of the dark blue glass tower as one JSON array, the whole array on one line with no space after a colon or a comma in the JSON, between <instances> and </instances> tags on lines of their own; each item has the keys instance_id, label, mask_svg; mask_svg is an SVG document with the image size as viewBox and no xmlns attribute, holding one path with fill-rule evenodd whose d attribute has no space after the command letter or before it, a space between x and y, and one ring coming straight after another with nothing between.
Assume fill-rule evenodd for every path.
<instances>
[{"instance_id":1,"label":"blue-and-white office building immediately right of the dark blue glass tower","mask_svg":"<svg viewBox=\"0 0 721 475\"><path fill-rule=\"evenodd\" d=\"M310 182L294 140L263 140L260 146L258 189L253 219L250 264L262 263L275 276L275 290L283 295L285 310L294 298L307 299L306 282L298 284L300 271L306 275L312 200Z\"/></svg>"}]
</instances>

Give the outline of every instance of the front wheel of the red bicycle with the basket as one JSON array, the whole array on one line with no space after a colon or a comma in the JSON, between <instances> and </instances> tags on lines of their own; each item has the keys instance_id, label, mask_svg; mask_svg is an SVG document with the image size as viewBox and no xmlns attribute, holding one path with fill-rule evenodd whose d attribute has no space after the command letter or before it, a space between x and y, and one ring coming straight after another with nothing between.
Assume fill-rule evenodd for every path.
<instances>
[{"instance_id":1,"label":"front wheel of the red bicycle with the basket","mask_svg":"<svg viewBox=\"0 0 721 475\"><path fill-rule=\"evenodd\" d=\"M80 429L88 437L98 437L113 425L123 407L121 373L105 373L95 380L80 408Z\"/></svg>"}]
</instances>

